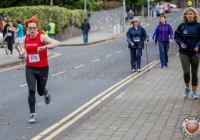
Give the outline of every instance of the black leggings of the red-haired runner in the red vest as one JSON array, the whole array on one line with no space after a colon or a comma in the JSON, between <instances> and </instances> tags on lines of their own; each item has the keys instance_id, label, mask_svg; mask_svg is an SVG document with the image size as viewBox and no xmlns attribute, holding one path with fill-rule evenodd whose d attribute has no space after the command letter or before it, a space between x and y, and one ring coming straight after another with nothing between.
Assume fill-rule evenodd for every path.
<instances>
[{"instance_id":1,"label":"black leggings of the red-haired runner in the red vest","mask_svg":"<svg viewBox=\"0 0 200 140\"><path fill-rule=\"evenodd\" d=\"M49 66L35 68L26 66L26 81L28 84L29 96L28 103L30 108L30 113L35 113L35 86L37 81L37 91L40 96L43 96L46 91L46 83L49 74Z\"/></svg>"}]
</instances>

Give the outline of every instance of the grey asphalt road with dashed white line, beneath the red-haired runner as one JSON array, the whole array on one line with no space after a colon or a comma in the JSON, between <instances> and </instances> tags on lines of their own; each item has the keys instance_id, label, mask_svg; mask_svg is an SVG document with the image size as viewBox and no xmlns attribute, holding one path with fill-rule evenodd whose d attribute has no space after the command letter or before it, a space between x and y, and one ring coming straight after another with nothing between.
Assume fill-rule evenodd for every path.
<instances>
[{"instance_id":1,"label":"grey asphalt road with dashed white line, beneath the red-haired runner","mask_svg":"<svg viewBox=\"0 0 200 140\"><path fill-rule=\"evenodd\" d=\"M167 15L167 22L172 24L173 29L178 25L178 22L174 21L177 21L180 14L176 12ZM151 35L158 21L147 22L150 25L146 30ZM170 57L177 54L177 47L174 46L175 43L172 43ZM148 48L149 62L158 60L158 48L154 46L153 41L149 42ZM31 139L131 74L125 37L99 45L59 47L52 52L62 54L49 62L47 86L50 88L52 102L50 105L45 105L43 97L36 96L37 123L35 124L28 123L29 108L24 66L0 72L0 139ZM145 51L143 53L142 67L146 65ZM93 109L90 115L96 113L99 107L119 93L120 90ZM88 118L81 117L54 139L64 138L86 119Z\"/></svg>"}]
</instances>

